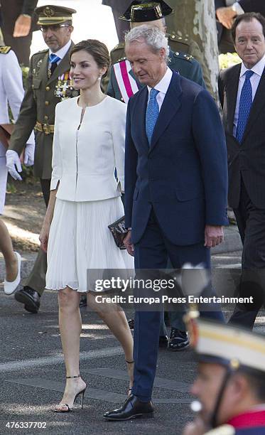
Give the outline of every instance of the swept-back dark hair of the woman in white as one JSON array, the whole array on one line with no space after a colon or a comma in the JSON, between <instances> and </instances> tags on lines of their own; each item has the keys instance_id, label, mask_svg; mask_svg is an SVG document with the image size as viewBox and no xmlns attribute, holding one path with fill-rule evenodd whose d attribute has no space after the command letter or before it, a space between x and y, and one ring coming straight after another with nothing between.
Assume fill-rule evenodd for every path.
<instances>
[{"instance_id":1,"label":"swept-back dark hair of the woman in white","mask_svg":"<svg viewBox=\"0 0 265 435\"><path fill-rule=\"evenodd\" d=\"M81 41L80 43L75 44L70 50L70 58L73 53L77 53L77 51L81 50L92 55L92 58L99 68L109 68L109 50L107 49L107 45L104 43L97 41L97 39L86 39L85 41ZM104 75L106 74L107 72Z\"/></svg>"}]
</instances>

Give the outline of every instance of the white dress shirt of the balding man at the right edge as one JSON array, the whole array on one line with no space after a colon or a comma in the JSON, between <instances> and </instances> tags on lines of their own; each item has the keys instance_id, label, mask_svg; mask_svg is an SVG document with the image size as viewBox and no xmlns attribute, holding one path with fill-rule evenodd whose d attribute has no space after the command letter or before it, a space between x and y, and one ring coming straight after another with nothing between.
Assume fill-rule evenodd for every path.
<instances>
[{"instance_id":1,"label":"white dress shirt of the balding man at the right edge","mask_svg":"<svg viewBox=\"0 0 265 435\"><path fill-rule=\"evenodd\" d=\"M254 71L254 74L249 79L251 84L252 84L252 101L254 100L254 97L256 95L256 90L258 89L259 80L261 80L261 75L262 75L262 73L264 71L264 68L265 68L265 55L251 69L251 71ZM233 127L233 135L234 135L234 137L236 136L236 132L237 132L239 102L240 102L240 96L241 96L242 87L243 87L244 81L245 81L245 73L246 73L246 71L248 71L248 69L245 67L244 63L242 62L240 76L239 76L238 90L237 90L237 104L236 104L236 109L234 111L234 127Z\"/></svg>"}]
</instances>

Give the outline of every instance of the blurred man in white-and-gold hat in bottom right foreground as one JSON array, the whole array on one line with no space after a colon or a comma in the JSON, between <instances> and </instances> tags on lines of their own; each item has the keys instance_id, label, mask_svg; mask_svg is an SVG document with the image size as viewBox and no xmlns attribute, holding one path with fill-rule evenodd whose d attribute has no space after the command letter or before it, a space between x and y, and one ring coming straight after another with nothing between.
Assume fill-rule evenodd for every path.
<instances>
[{"instance_id":1,"label":"blurred man in white-and-gold hat in bottom right foreground","mask_svg":"<svg viewBox=\"0 0 265 435\"><path fill-rule=\"evenodd\" d=\"M183 435L264 435L264 336L194 318L190 330L199 361L191 392L200 402Z\"/></svg>"}]
</instances>

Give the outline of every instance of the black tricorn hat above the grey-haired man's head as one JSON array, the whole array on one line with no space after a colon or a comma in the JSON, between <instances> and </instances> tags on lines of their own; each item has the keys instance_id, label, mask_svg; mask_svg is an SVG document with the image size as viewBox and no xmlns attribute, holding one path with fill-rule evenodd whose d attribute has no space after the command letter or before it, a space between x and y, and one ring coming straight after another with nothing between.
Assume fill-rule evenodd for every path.
<instances>
[{"instance_id":1,"label":"black tricorn hat above the grey-haired man's head","mask_svg":"<svg viewBox=\"0 0 265 435\"><path fill-rule=\"evenodd\" d=\"M119 19L133 21L134 23L143 23L146 21L156 21L173 13L173 9L163 0L134 0L124 12L124 15L120 16Z\"/></svg>"}]
</instances>

